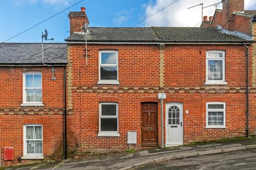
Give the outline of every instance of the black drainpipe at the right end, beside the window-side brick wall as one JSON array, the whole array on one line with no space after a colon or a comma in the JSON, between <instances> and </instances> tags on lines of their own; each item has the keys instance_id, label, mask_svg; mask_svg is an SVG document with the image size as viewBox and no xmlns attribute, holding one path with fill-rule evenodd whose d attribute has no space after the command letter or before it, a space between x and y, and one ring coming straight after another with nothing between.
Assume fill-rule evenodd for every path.
<instances>
[{"instance_id":1,"label":"black drainpipe at the right end, beside the window-side brick wall","mask_svg":"<svg viewBox=\"0 0 256 170\"><path fill-rule=\"evenodd\" d=\"M249 136L249 48L243 42L246 48L246 136Z\"/></svg>"}]
</instances>

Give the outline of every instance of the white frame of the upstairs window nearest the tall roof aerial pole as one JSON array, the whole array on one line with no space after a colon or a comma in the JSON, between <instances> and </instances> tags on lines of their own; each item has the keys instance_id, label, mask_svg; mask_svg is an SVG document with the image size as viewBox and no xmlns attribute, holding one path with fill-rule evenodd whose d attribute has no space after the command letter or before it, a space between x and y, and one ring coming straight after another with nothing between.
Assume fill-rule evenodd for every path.
<instances>
[{"instance_id":1,"label":"white frame of the upstairs window nearest the tall roof aerial pole","mask_svg":"<svg viewBox=\"0 0 256 170\"><path fill-rule=\"evenodd\" d=\"M116 64L101 64L101 54L102 53L116 53ZM100 80L100 67L101 66L117 67L117 80ZM118 51L117 50L99 50L99 81L98 81L98 84L119 84L118 74L119 74Z\"/></svg>"}]
</instances>

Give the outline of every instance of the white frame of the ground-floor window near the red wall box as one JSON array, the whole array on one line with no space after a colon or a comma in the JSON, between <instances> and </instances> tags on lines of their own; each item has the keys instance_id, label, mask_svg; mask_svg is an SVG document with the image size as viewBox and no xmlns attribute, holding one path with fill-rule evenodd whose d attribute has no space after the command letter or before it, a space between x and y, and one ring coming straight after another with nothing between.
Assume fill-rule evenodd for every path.
<instances>
[{"instance_id":1,"label":"white frame of the ground-floor window near the red wall box","mask_svg":"<svg viewBox=\"0 0 256 170\"><path fill-rule=\"evenodd\" d=\"M42 127L42 154L27 154L27 145L26 145L26 128L27 126L33 126L34 132L35 132L35 126L41 126ZM41 141L41 139L33 139ZM25 124L23 125L23 157L22 159L44 159L43 153L44 153L44 145L43 145L43 125L42 124Z\"/></svg>"}]
</instances>

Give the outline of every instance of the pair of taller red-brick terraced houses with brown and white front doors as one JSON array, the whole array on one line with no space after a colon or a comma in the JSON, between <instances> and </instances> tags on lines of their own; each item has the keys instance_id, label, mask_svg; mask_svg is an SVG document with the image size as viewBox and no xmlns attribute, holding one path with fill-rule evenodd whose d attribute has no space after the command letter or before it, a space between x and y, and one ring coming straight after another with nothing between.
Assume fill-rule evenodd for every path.
<instances>
[{"instance_id":1,"label":"pair of taller red-brick terraced houses with brown and white front doors","mask_svg":"<svg viewBox=\"0 0 256 170\"><path fill-rule=\"evenodd\" d=\"M83 7L69 19L70 152L126 150L128 139L135 149L161 146L158 93L165 146L255 134L252 40L216 28L84 33Z\"/></svg>"}]
</instances>

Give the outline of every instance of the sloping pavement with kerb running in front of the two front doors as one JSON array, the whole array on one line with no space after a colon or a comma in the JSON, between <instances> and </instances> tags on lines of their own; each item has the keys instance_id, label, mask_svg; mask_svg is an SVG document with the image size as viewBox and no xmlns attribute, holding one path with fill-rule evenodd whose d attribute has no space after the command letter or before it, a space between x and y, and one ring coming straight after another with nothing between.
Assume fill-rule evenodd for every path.
<instances>
[{"instance_id":1,"label":"sloping pavement with kerb running in front of the two front doors","mask_svg":"<svg viewBox=\"0 0 256 170\"><path fill-rule=\"evenodd\" d=\"M212 155L223 152L248 150L256 148L255 139L215 141L197 143L195 145L171 147L164 149L151 149L127 154L123 156L110 156L102 159L85 160L81 162L63 163L56 170L62 169L138 169L147 165L166 162L173 159L188 158L202 155Z\"/></svg>"}]
</instances>

